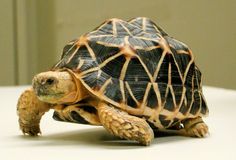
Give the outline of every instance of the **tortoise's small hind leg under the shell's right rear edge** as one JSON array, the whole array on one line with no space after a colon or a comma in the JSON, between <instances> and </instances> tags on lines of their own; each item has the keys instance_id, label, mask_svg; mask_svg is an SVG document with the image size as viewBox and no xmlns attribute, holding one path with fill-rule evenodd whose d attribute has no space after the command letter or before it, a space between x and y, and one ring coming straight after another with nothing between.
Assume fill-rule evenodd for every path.
<instances>
[{"instance_id":1,"label":"tortoise's small hind leg under the shell's right rear edge","mask_svg":"<svg viewBox=\"0 0 236 160\"><path fill-rule=\"evenodd\" d=\"M205 137L208 134L208 126L201 117L186 119L183 121L182 134L190 137Z\"/></svg>"}]
</instances>

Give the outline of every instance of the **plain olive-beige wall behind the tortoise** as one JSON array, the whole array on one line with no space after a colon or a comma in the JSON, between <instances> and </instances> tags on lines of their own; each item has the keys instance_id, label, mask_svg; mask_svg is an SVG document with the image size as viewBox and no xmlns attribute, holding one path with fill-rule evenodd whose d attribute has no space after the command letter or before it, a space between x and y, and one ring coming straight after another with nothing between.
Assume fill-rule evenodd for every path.
<instances>
[{"instance_id":1,"label":"plain olive-beige wall behind the tortoise","mask_svg":"<svg viewBox=\"0 0 236 160\"><path fill-rule=\"evenodd\" d=\"M236 89L235 0L1 0L0 85L30 84L105 19L146 16L190 46L204 84Z\"/></svg>"}]
</instances>

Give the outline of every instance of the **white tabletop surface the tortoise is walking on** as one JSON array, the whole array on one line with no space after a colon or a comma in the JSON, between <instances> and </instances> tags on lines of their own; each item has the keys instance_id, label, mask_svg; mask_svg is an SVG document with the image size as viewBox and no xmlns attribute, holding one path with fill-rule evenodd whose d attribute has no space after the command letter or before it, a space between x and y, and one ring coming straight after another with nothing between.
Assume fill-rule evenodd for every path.
<instances>
[{"instance_id":1,"label":"white tabletop surface the tortoise is walking on","mask_svg":"<svg viewBox=\"0 0 236 160\"><path fill-rule=\"evenodd\" d=\"M42 119L42 136L23 136L16 103L26 87L0 87L1 160L213 160L236 159L236 91L204 87L210 115L207 138L156 137L149 147L119 141L102 127L54 121L52 111Z\"/></svg>"}]
</instances>

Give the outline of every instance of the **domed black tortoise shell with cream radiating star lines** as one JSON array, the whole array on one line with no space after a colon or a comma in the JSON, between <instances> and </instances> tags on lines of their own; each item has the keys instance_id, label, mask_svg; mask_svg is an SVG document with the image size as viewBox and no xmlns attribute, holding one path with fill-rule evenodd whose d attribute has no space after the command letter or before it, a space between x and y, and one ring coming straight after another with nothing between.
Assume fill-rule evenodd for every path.
<instances>
[{"instance_id":1,"label":"domed black tortoise shell with cream radiating star lines","mask_svg":"<svg viewBox=\"0 0 236 160\"><path fill-rule=\"evenodd\" d=\"M99 99L158 128L208 114L191 50L148 18L109 19L68 43L67 68Z\"/></svg>"}]
</instances>

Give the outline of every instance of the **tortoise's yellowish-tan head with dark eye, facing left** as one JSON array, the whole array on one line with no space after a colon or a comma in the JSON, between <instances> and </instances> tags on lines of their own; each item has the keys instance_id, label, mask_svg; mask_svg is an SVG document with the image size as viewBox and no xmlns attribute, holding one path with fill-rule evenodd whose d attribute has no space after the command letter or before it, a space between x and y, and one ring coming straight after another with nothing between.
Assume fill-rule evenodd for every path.
<instances>
[{"instance_id":1,"label":"tortoise's yellowish-tan head with dark eye, facing left","mask_svg":"<svg viewBox=\"0 0 236 160\"><path fill-rule=\"evenodd\" d=\"M42 72L32 83L38 98L51 104L74 103L85 96L81 82L68 71Z\"/></svg>"}]
</instances>

